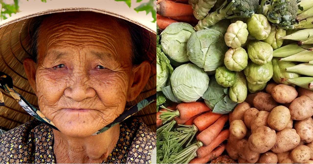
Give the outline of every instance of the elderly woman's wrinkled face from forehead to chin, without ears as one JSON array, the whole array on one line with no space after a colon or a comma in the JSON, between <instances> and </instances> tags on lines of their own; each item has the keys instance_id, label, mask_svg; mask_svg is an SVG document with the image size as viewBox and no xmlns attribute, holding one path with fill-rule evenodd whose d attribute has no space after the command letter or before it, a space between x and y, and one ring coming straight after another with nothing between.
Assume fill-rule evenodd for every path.
<instances>
[{"instance_id":1,"label":"elderly woman's wrinkled face from forehead to chin, without ears","mask_svg":"<svg viewBox=\"0 0 313 164\"><path fill-rule=\"evenodd\" d=\"M67 135L88 136L111 123L131 87L129 31L110 16L100 18L52 16L38 34L39 108Z\"/></svg>"}]
</instances>

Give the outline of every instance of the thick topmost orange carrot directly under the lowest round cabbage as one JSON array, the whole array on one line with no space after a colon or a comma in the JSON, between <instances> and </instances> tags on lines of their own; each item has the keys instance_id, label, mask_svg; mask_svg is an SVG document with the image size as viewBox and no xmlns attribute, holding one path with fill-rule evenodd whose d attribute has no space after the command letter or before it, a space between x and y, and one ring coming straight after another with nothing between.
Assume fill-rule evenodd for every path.
<instances>
[{"instance_id":1,"label":"thick topmost orange carrot directly under the lowest round cabbage","mask_svg":"<svg viewBox=\"0 0 313 164\"><path fill-rule=\"evenodd\" d=\"M204 102L180 103L176 106L181 119L190 119L193 116L211 110Z\"/></svg>"}]
</instances>

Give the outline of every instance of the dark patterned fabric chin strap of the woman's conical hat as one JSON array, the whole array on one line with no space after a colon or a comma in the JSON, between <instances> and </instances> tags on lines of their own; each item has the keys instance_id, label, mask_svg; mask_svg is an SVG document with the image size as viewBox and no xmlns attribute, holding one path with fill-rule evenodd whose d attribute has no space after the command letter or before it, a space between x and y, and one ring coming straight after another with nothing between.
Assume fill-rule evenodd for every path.
<instances>
[{"instance_id":1,"label":"dark patterned fabric chin strap of the woman's conical hat","mask_svg":"<svg viewBox=\"0 0 313 164\"><path fill-rule=\"evenodd\" d=\"M18 102L18 104L21 105L21 107L30 115L32 115L34 118L39 120L40 122L47 124L51 128L58 130L58 128L55 127L54 123L50 121L44 114L40 112L37 108L35 108L32 104L28 103L23 96L21 96L19 93L17 93L13 89L13 79L9 75L5 74L4 72L0 72L0 88L4 90L6 93L10 93L10 95ZM120 116L118 116L113 122L106 125L102 129L95 132L93 135L97 135L100 133L105 132L106 130L110 129L111 127L115 126L116 124L124 121L131 115L135 114L136 112L140 111L142 108L145 108L150 103L154 102L156 100L156 94L149 96L148 98L142 100L141 102L137 103L136 105L132 106L128 110L124 111ZM4 100L2 93L0 91L0 106L4 106Z\"/></svg>"}]
</instances>

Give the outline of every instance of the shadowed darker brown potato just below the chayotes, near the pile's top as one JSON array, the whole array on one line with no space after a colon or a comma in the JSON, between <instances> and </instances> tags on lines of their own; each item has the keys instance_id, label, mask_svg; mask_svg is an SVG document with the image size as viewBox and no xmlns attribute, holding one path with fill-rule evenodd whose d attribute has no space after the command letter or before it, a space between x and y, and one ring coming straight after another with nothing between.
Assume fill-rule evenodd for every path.
<instances>
[{"instance_id":1,"label":"shadowed darker brown potato just below the chayotes, near the pile's top","mask_svg":"<svg viewBox=\"0 0 313 164\"><path fill-rule=\"evenodd\" d=\"M270 112L278 103L272 98L272 95L264 92L259 92L253 99L253 106L258 110Z\"/></svg>"}]
</instances>

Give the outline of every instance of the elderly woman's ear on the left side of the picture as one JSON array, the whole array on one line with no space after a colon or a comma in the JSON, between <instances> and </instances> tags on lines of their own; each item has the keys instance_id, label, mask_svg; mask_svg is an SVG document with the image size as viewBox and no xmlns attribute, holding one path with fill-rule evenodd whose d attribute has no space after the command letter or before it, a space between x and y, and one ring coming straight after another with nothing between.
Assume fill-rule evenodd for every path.
<instances>
[{"instance_id":1,"label":"elderly woman's ear on the left side of the picture","mask_svg":"<svg viewBox=\"0 0 313 164\"><path fill-rule=\"evenodd\" d=\"M36 88L36 63L31 58L25 58L23 62L24 70L30 86L37 93Z\"/></svg>"}]
</instances>

